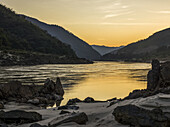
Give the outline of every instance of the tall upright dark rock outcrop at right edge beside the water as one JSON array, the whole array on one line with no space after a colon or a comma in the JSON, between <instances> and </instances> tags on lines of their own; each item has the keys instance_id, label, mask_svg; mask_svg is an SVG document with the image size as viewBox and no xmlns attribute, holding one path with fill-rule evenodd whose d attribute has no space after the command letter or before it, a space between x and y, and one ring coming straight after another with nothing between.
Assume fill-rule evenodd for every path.
<instances>
[{"instance_id":1,"label":"tall upright dark rock outcrop at right edge beside the water","mask_svg":"<svg viewBox=\"0 0 170 127\"><path fill-rule=\"evenodd\" d=\"M160 64L152 60L152 70L147 75L147 89L134 90L124 99L148 97L158 93L170 94L170 62Z\"/></svg>"}]
</instances>

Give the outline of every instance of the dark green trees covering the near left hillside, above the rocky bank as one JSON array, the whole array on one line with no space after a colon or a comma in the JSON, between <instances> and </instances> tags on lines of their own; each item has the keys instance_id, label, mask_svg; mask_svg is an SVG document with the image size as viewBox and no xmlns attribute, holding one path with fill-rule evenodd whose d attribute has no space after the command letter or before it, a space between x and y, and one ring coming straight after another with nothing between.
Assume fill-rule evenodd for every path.
<instances>
[{"instance_id":1,"label":"dark green trees covering the near left hillside, above the rocky bank","mask_svg":"<svg viewBox=\"0 0 170 127\"><path fill-rule=\"evenodd\" d=\"M69 45L0 5L0 50L25 50L76 57Z\"/></svg>"}]
</instances>

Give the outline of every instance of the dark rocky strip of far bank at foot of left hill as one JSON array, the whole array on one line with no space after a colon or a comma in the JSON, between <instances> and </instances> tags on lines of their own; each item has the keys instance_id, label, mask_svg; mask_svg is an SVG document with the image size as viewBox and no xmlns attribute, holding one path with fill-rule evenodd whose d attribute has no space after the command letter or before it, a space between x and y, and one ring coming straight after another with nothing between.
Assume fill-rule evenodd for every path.
<instances>
[{"instance_id":1,"label":"dark rocky strip of far bank at foot of left hill","mask_svg":"<svg viewBox=\"0 0 170 127\"><path fill-rule=\"evenodd\" d=\"M73 56L58 56L29 51L0 51L0 66L28 66L41 64L92 64L92 61Z\"/></svg>"}]
</instances>

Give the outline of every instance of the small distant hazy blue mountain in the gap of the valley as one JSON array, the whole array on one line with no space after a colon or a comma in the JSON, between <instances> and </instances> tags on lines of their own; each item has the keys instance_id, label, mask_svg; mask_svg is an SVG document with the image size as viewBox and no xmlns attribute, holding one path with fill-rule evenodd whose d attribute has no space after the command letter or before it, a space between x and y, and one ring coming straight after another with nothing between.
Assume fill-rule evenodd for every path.
<instances>
[{"instance_id":1,"label":"small distant hazy blue mountain in the gap of the valley","mask_svg":"<svg viewBox=\"0 0 170 127\"><path fill-rule=\"evenodd\" d=\"M91 46L92 46L92 48L94 50L96 50L102 56L124 47L124 46L120 46L120 47L107 47L107 46L104 46L104 45L103 46L100 46L100 45L91 45Z\"/></svg>"}]
</instances>

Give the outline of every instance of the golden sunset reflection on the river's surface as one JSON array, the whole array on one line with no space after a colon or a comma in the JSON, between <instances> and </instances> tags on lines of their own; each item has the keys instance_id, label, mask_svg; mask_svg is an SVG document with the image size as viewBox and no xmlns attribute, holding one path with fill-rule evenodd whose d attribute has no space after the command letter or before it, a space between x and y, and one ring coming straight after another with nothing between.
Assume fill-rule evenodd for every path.
<instances>
[{"instance_id":1,"label":"golden sunset reflection on the river's surface","mask_svg":"<svg viewBox=\"0 0 170 127\"><path fill-rule=\"evenodd\" d=\"M106 62L95 63L101 71L88 73L88 76L71 89L66 89L65 100L88 96L96 100L107 100L114 97L123 98L134 89L146 88L146 74L150 69L150 64L146 63L118 63ZM106 64L106 66L104 66ZM113 66L115 65L115 66ZM143 81L144 80L144 81Z\"/></svg>"}]
</instances>

